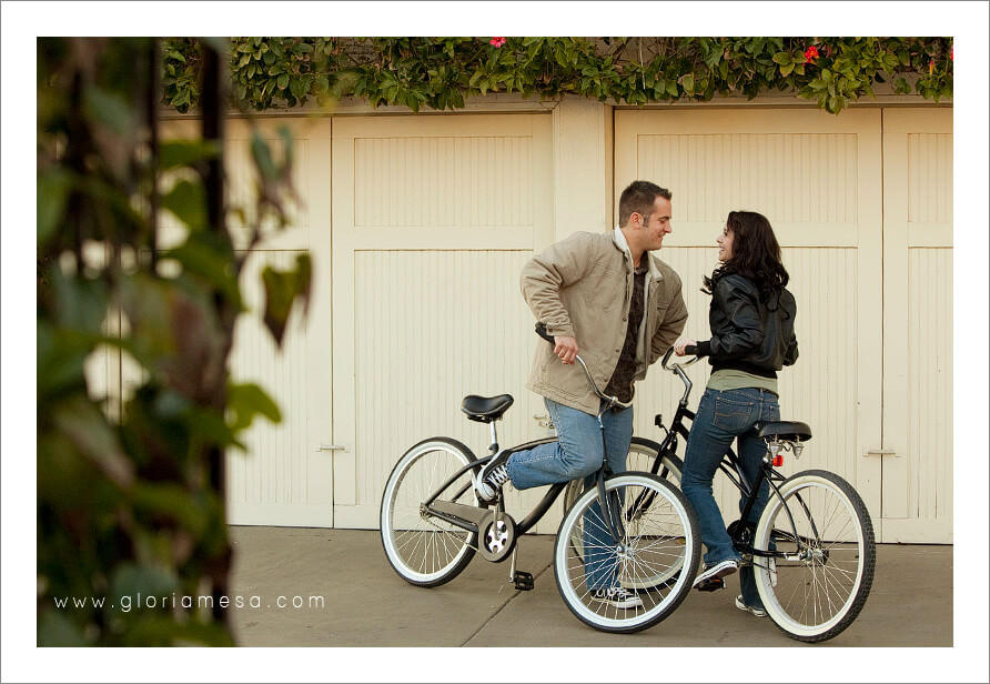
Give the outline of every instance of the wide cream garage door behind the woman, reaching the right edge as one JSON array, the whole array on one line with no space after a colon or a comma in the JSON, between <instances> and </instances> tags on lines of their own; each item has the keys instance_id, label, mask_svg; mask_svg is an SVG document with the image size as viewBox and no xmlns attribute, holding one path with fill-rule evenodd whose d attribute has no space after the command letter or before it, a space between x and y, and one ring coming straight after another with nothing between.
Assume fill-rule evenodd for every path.
<instances>
[{"instance_id":1,"label":"wide cream garage door behind the woman, reaching the right edge","mask_svg":"<svg viewBox=\"0 0 990 684\"><path fill-rule=\"evenodd\" d=\"M815 434L785 473L821 467L862 495L883 542L951 542L951 110L616 112L616 188L674 192L661 258L683 276L689 334L730 210L770 219L798 300L800 359L781 412ZM694 404L707 380L694 370ZM654 376L637 431L679 383ZM716 495L738 516L724 477Z\"/></svg>"}]
</instances>

